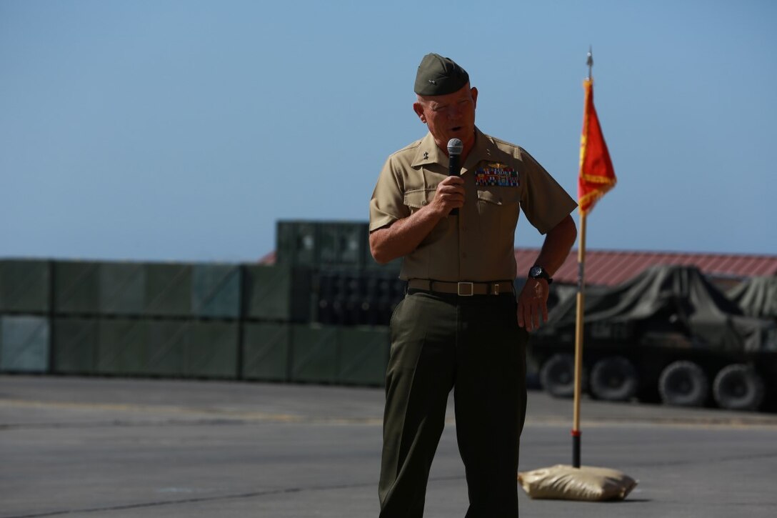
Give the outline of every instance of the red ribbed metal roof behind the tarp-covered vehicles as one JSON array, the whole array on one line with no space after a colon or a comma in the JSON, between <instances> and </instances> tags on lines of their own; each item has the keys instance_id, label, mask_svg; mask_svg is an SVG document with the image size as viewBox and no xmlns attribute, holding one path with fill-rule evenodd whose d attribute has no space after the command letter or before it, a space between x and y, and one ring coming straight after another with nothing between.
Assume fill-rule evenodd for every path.
<instances>
[{"instance_id":1,"label":"red ribbed metal roof behind the tarp-covered vehicles","mask_svg":"<svg viewBox=\"0 0 777 518\"><path fill-rule=\"evenodd\" d=\"M538 248L515 249L518 275L529 271L538 254ZM618 285L655 264L695 265L706 275L720 278L777 275L777 255L586 250L585 282L589 285ZM553 278L556 282L577 284L577 271L576 249L566 257Z\"/></svg>"}]
</instances>

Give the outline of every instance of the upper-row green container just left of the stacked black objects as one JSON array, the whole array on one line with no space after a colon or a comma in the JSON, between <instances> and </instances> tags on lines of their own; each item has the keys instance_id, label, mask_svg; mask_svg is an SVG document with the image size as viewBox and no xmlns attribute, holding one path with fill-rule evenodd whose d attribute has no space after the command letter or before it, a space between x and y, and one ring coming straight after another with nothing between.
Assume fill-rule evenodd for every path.
<instances>
[{"instance_id":1,"label":"upper-row green container just left of the stacked black objects","mask_svg":"<svg viewBox=\"0 0 777 518\"><path fill-rule=\"evenodd\" d=\"M246 266L244 317L256 320L308 322L313 300L311 271L284 265Z\"/></svg>"}]
</instances>

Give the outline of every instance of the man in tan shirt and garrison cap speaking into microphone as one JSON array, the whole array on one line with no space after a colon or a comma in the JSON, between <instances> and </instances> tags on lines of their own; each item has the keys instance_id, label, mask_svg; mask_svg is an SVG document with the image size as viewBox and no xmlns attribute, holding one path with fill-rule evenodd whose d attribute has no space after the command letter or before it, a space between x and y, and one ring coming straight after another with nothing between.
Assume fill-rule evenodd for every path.
<instances>
[{"instance_id":1,"label":"man in tan shirt and garrison cap speaking into microphone","mask_svg":"<svg viewBox=\"0 0 777 518\"><path fill-rule=\"evenodd\" d=\"M391 321L380 516L423 516L453 389L466 516L515 518L527 331L547 320L551 276L577 235L576 204L527 152L476 128L478 92L454 61L424 56L415 92L429 132L389 156L370 201L371 252L379 263L404 257L408 282ZM451 138L463 144L461 176L448 176ZM521 209L546 236L516 300Z\"/></svg>"}]
</instances>

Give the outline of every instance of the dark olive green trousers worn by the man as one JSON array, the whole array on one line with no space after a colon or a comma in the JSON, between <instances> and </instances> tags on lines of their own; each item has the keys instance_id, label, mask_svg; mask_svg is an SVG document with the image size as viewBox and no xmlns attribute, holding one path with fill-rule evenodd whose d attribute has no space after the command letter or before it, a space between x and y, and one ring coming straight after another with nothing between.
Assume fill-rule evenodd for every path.
<instances>
[{"instance_id":1,"label":"dark olive green trousers worn by the man","mask_svg":"<svg viewBox=\"0 0 777 518\"><path fill-rule=\"evenodd\" d=\"M381 518L420 518L454 390L467 518L515 518L518 442L526 415L526 341L512 293L409 292L391 321Z\"/></svg>"}]
</instances>

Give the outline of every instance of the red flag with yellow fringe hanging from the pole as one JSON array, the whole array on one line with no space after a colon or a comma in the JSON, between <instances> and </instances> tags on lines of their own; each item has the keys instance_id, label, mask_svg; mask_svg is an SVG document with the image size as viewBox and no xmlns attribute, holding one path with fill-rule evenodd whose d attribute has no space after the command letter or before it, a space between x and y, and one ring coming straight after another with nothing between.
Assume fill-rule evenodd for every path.
<instances>
[{"instance_id":1,"label":"red flag with yellow fringe hanging from the pole","mask_svg":"<svg viewBox=\"0 0 777 518\"><path fill-rule=\"evenodd\" d=\"M593 82L586 79L583 86L585 113L583 135L580 137L580 178L577 182L577 204L580 205L581 215L591 212L598 199L615 187L617 181L594 108Z\"/></svg>"}]
</instances>

